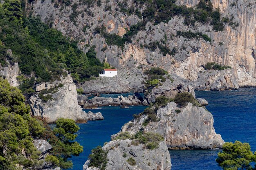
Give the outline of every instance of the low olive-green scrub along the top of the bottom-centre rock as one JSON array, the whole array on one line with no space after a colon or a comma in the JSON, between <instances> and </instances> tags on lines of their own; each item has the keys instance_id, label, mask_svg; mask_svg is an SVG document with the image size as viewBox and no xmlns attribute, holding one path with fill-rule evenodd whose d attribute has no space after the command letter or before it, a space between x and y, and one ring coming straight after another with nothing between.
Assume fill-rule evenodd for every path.
<instances>
[{"instance_id":1,"label":"low olive-green scrub along the top of the bottom-centre rock","mask_svg":"<svg viewBox=\"0 0 256 170\"><path fill-rule=\"evenodd\" d=\"M144 144L146 148L150 150L158 148L159 142L164 140L162 135L153 132L142 131L137 132L135 135L131 135L129 132L121 132L112 140L118 139L132 139L132 145Z\"/></svg>"}]
</instances>

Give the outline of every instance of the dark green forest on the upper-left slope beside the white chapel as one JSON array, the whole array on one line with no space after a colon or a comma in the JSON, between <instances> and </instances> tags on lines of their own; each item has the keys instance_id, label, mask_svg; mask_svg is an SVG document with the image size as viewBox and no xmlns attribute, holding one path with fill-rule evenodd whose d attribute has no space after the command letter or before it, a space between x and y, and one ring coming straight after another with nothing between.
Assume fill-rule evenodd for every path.
<instances>
[{"instance_id":1,"label":"dark green forest on the upper-left slope beside the white chapel","mask_svg":"<svg viewBox=\"0 0 256 170\"><path fill-rule=\"evenodd\" d=\"M95 47L85 55L76 42L49 28L39 18L25 18L20 0L6 0L0 5L0 26L0 63L5 66L7 60L10 64L18 62L21 72L35 76L36 82L55 80L63 74L63 69L81 82L98 76L103 68L96 58Z\"/></svg>"}]
</instances>

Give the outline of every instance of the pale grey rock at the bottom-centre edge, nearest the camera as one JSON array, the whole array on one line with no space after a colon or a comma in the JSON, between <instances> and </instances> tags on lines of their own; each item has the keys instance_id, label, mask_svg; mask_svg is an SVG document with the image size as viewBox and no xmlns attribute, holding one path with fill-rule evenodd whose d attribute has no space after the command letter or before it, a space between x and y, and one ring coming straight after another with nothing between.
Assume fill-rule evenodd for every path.
<instances>
[{"instance_id":1,"label":"pale grey rock at the bottom-centre edge, nearest the camera","mask_svg":"<svg viewBox=\"0 0 256 170\"><path fill-rule=\"evenodd\" d=\"M168 148L164 142L159 143L159 148L154 150L145 149L144 144L132 145L132 140L110 141L103 146L108 150L108 163L106 170L170 170L171 159ZM124 156L126 155L126 156ZM128 159L135 160L135 165L130 165ZM88 167L86 161L83 170L99 170L99 168Z\"/></svg>"}]
</instances>

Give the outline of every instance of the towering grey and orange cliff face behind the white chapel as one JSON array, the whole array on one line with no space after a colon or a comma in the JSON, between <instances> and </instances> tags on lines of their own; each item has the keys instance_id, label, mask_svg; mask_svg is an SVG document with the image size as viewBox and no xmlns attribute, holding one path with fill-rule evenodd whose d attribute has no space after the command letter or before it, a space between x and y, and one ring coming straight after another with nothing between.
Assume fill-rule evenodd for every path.
<instances>
[{"instance_id":1,"label":"towering grey and orange cliff face behind the white chapel","mask_svg":"<svg viewBox=\"0 0 256 170\"><path fill-rule=\"evenodd\" d=\"M79 46L83 51L88 50L88 45L95 45L97 57L117 68L130 69L143 64L159 66L169 73L176 73L182 78L195 81L200 71L204 70L202 65L216 62L233 68L232 72L239 86L256 86L256 2L254 0L211 0L214 8L220 8L222 18L227 16L238 23L236 26L225 24L223 31L214 31L209 23L186 26L182 16L175 16L167 23L147 22L145 30L138 31L131 42L124 44L123 50L116 45L108 45L95 28L104 25L107 33L123 36L132 25L143 18L121 12L116 0L100 2L101 4L97 4L96 1L79 3L78 0L74 0L68 6L52 0L43 2L35 0L31 4L28 3L27 8L34 16L39 15L43 22L79 40ZM198 2L199 0L177 0L176 4L194 7ZM134 8L136 4L129 0L127 6ZM141 7L139 11L142 12L144 9L145 7ZM177 31L189 30L202 32L214 41L187 40L182 36L176 36ZM175 48L176 53L164 56L159 48L153 51L145 48L150 42L161 41L165 41L169 49Z\"/></svg>"}]
</instances>

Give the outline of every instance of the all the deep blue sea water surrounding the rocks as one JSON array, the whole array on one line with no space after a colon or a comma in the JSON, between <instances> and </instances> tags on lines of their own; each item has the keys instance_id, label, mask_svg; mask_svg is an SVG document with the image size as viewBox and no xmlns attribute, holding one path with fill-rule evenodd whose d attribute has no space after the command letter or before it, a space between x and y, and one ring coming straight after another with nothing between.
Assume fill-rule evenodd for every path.
<instances>
[{"instance_id":1,"label":"all the deep blue sea water surrounding the rocks","mask_svg":"<svg viewBox=\"0 0 256 170\"><path fill-rule=\"evenodd\" d=\"M256 150L256 88L240 88L237 91L197 91L196 97L204 98L206 107L214 118L216 133L224 141L248 142ZM77 141L84 147L79 157L72 157L74 170L82 170L92 148L110 141L110 136L121 129L132 115L144 110L144 106L131 108L102 107L103 121L79 124ZM88 110L85 110L88 111ZM220 150L170 150L172 170L221 170L215 159Z\"/></svg>"}]
</instances>

